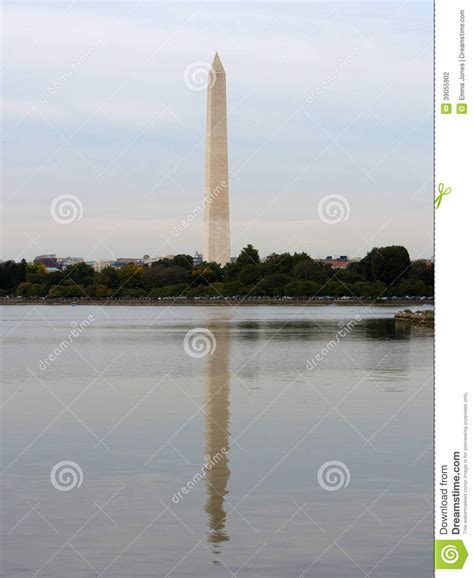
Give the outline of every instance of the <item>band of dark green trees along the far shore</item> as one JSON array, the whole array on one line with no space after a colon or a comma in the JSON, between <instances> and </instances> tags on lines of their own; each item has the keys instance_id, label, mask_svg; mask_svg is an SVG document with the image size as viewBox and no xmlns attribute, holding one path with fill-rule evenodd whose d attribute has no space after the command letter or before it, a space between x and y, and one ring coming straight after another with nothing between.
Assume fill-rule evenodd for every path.
<instances>
[{"instance_id":1,"label":"band of dark green trees along the far shore","mask_svg":"<svg viewBox=\"0 0 474 578\"><path fill-rule=\"evenodd\" d=\"M307 253L261 259L252 245L234 263L193 266L190 255L151 265L135 263L96 272L86 263L48 272L44 265L0 264L0 296L23 298L152 299L165 297L379 297L432 296L433 267L410 261L405 247L374 247L358 262L333 269Z\"/></svg>"}]
</instances>

